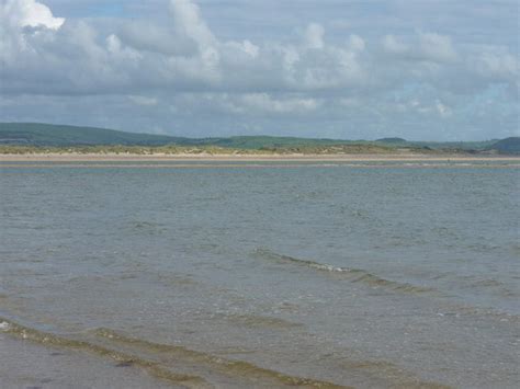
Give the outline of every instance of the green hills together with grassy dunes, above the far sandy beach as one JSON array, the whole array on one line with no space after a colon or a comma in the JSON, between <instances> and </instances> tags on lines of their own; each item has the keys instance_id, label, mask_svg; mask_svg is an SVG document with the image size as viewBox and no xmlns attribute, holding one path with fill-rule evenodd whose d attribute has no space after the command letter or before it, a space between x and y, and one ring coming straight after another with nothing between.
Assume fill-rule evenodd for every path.
<instances>
[{"instance_id":1,"label":"green hills together with grassy dunes, above the far sandy beach","mask_svg":"<svg viewBox=\"0 0 520 389\"><path fill-rule=\"evenodd\" d=\"M186 138L95 127L38 123L0 123L0 152L140 153L520 153L520 138L468 142L312 139L272 136Z\"/></svg>"}]
</instances>

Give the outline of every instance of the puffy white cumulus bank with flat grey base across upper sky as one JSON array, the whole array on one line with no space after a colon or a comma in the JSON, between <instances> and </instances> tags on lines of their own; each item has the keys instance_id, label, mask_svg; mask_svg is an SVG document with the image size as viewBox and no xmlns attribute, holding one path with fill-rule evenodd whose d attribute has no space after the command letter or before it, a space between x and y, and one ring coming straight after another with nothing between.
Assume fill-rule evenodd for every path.
<instances>
[{"instance_id":1,"label":"puffy white cumulus bank with flat grey base across upper sky","mask_svg":"<svg viewBox=\"0 0 520 389\"><path fill-rule=\"evenodd\" d=\"M169 23L123 20L103 36L86 21L64 22L53 16L34 0L16 2L18 16L13 16L13 4L9 1L2 9L2 20L11 20L5 49L0 54L7 64L3 93L27 89L36 93L39 87L41 93L71 94L135 94L143 89L172 93L344 90L349 94L381 92L405 81L450 88L446 78L457 73L466 78L471 73L475 84L485 85L493 77L515 83L518 75L511 54L486 50L474 58L473 53L455 49L450 36L438 33L418 33L408 37L408 43L387 34L382 46L370 45L358 34L328 43L324 26L310 23L301 43L223 41L194 2L171 0ZM27 18L45 31L21 28ZM20 71L25 72L27 82L15 77ZM45 82L34 82L38 79Z\"/></svg>"}]
</instances>

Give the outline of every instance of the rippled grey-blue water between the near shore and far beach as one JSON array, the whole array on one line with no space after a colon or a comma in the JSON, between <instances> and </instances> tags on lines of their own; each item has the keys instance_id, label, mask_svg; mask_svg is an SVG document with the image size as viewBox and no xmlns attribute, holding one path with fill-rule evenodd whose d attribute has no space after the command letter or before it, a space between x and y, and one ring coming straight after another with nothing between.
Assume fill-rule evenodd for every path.
<instances>
[{"instance_id":1,"label":"rippled grey-blue water between the near shore and far beach","mask_svg":"<svg viewBox=\"0 0 520 389\"><path fill-rule=\"evenodd\" d=\"M4 330L194 387L519 384L517 163L22 165Z\"/></svg>"}]
</instances>

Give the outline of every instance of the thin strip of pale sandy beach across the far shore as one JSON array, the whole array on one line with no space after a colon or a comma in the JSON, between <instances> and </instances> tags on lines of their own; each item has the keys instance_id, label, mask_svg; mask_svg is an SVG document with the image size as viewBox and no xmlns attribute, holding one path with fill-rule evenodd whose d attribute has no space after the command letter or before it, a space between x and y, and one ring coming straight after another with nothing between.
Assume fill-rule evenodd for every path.
<instances>
[{"instance_id":1,"label":"thin strip of pale sandy beach across the far shore","mask_svg":"<svg viewBox=\"0 0 520 389\"><path fill-rule=\"evenodd\" d=\"M461 156L461 155L123 155L123 153L25 153L0 155L0 162L160 162L160 161L219 161L219 162L355 162L355 161L520 161L520 156Z\"/></svg>"}]
</instances>

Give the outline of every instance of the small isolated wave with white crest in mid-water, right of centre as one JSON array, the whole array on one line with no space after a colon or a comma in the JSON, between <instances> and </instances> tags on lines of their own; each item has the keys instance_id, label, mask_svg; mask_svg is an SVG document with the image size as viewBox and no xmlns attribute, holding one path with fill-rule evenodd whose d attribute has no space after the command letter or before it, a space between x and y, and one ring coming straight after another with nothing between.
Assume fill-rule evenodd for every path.
<instances>
[{"instance_id":1,"label":"small isolated wave with white crest in mid-water, right of centre","mask_svg":"<svg viewBox=\"0 0 520 389\"><path fill-rule=\"evenodd\" d=\"M352 283L363 283L373 287L381 287L395 291L412 294L434 291L434 289L432 288L386 279L361 268L338 267L335 265L318 263L314 261L301 260L289 255L278 254L265 249L257 249L253 254L275 262L290 263L298 266L305 266L308 268L317 270L320 272L332 273L335 275L344 277Z\"/></svg>"}]
</instances>

